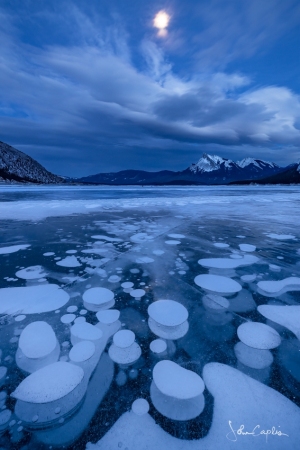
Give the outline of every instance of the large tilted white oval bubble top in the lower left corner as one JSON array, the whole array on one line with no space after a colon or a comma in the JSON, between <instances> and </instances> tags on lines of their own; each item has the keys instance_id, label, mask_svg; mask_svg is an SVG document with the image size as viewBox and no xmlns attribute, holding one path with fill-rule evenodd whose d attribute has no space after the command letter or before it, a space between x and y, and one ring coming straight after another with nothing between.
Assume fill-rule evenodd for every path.
<instances>
[{"instance_id":1,"label":"large tilted white oval bubble top in the lower left corner","mask_svg":"<svg viewBox=\"0 0 300 450\"><path fill-rule=\"evenodd\" d=\"M29 375L11 396L27 403L50 403L73 391L83 377L81 367L59 361Z\"/></svg>"}]
</instances>

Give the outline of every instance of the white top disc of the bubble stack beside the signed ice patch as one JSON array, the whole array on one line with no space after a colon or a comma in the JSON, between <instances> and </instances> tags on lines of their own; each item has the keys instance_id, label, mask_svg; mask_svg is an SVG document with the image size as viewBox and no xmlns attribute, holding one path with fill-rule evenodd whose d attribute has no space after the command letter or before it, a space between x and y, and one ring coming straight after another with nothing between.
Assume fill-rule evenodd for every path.
<instances>
[{"instance_id":1,"label":"white top disc of the bubble stack beside the signed ice patch","mask_svg":"<svg viewBox=\"0 0 300 450\"><path fill-rule=\"evenodd\" d=\"M173 361L158 362L153 369L153 380L163 394L177 399L191 399L202 394L202 378Z\"/></svg>"}]
</instances>

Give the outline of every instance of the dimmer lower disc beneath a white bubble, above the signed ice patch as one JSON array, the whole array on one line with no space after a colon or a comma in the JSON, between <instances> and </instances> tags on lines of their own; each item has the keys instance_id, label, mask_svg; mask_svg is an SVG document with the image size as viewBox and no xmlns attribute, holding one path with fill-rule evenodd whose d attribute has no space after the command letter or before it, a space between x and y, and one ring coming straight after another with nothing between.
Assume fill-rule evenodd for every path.
<instances>
[{"instance_id":1,"label":"dimmer lower disc beneath a white bubble, above the signed ice patch","mask_svg":"<svg viewBox=\"0 0 300 450\"><path fill-rule=\"evenodd\" d=\"M249 347L243 342L235 344L234 353L242 364L252 369L265 369L272 364L274 359L270 350Z\"/></svg>"}]
</instances>

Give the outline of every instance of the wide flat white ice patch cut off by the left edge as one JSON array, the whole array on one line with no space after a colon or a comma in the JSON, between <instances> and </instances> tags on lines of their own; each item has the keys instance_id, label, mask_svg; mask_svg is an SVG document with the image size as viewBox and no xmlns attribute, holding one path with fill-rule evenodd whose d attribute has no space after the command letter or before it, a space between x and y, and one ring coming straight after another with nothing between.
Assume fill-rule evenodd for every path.
<instances>
[{"instance_id":1,"label":"wide flat white ice patch cut off by the left edge","mask_svg":"<svg viewBox=\"0 0 300 450\"><path fill-rule=\"evenodd\" d=\"M0 289L0 314L37 314L55 311L69 301L57 284Z\"/></svg>"}]
</instances>

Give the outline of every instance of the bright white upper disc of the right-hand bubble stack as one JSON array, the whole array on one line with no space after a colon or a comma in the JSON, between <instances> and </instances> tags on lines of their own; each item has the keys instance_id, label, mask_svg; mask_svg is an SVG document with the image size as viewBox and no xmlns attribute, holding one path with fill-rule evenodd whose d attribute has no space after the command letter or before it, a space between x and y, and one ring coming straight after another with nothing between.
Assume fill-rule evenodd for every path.
<instances>
[{"instance_id":1,"label":"bright white upper disc of the right-hand bubble stack","mask_svg":"<svg viewBox=\"0 0 300 450\"><path fill-rule=\"evenodd\" d=\"M248 347L260 350L276 348L281 338L274 328L260 322L245 322L237 329L239 339Z\"/></svg>"}]
</instances>

